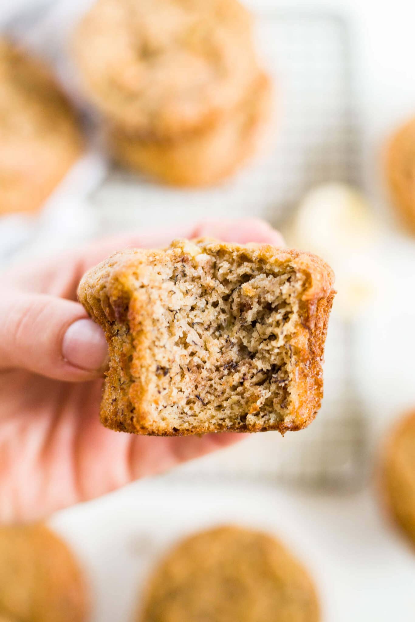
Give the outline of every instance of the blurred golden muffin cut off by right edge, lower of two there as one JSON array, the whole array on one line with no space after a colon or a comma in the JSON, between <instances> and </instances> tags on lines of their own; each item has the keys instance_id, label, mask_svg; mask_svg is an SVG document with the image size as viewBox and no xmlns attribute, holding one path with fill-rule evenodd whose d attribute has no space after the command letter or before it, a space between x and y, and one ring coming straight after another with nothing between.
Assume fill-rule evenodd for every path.
<instances>
[{"instance_id":1,"label":"blurred golden muffin cut off by right edge, lower of two there","mask_svg":"<svg viewBox=\"0 0 415 622\"><path fill-rule=\"evenodd\" d=\"M390 513L415 545L415 411L389 439L381 485Z\"/></svg>"}]
</instances>

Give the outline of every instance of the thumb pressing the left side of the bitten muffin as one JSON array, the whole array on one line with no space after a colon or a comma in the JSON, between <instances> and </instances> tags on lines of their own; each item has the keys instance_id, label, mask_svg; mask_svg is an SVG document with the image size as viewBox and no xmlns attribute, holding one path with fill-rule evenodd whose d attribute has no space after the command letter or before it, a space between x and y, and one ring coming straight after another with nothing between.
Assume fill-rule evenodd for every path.
<instances>
[{"instance_id":1,"label":"thumb pressing the left side of the bitten muffin","mask_svg":"<svg viewBox=\"0 0 415 622\"><path fill-rule=\"evenodd\" d=\"M0 300L0 317L0 369L27 369L64 381L103 373L104 334L77 302L12 291Z\"/></svg>"}]
</instances>

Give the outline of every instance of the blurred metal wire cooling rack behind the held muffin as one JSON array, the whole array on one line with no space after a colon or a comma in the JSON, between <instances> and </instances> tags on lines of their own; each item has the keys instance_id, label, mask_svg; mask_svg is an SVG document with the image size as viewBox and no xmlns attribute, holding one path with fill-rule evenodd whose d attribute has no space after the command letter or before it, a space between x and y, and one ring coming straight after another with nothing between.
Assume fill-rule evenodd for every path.
<instances>
[{"instance_id":1,"label":"blurred metal wire cooling rack behind the held muffin","mask_svg":"<svg viewBox=\"0 0 415 622\"><path fill-rule=\"evenodd\" d=\"M103 231L189 218L261 216L279 225L304 192L322 182L358 183L360 149L350 26L338 16L267 11L258 42L274 77L276 134L268 154L212 190L160 188L111 171L93 197ZM315 422L282 438L251 435L183 466L173 481L251 478L357 488L365 465L365 415L357 393L355 325L335 317L326 346L325 397Z\"/></svg>"}]
</instances>

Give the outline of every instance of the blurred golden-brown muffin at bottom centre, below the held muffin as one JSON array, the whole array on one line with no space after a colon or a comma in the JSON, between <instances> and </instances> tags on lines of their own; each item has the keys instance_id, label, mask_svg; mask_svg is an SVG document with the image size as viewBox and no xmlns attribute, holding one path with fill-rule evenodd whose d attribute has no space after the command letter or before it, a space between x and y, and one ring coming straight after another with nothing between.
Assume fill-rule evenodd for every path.
<instances>
[{"instance_id":1,"label":"blurred golden-brown muffin at bottom centre, below the held muffin","mask_svg":"<svg viewBox=\"0 0 415 622\"><path fill-rule=\"evenodd\" d=\"M218 527L180 542L152 575L138 622L318 622L307 571L274 537Z\"/></svg>"}]
</instances>

